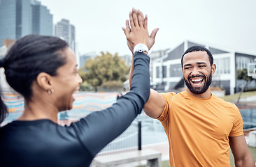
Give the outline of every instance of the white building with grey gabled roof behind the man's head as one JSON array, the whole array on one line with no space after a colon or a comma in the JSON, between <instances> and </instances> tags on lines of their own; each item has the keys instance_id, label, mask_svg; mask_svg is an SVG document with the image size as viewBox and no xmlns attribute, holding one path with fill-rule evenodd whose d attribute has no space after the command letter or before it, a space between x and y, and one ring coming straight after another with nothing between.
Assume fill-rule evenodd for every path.
<instances>
[{"instance_id":1,"label":"white building with grey gabled roof behind the man's head","mask_svg":"<svg viewBox=\"0 0 256 167\"><path fill-rule=\"evenodd\" d=\"M174 49L169 49L166 54L152 61L152 85L156 89L169 91L177 90L185 86L183 81L181 56L192 45L201 45L195 42L185 41ZM225 89L226 95L232 95L241 90L246 81L236 79L236 71L247 68L248 63L255 62L256 56L237 51L227 51L211 45L201 45L208 48L213 54L217 70L213 74L211 87ZM164 53L164 52L163 52ZM255 88L255 82L250 85Z\"/></svg>"}]
</instances>

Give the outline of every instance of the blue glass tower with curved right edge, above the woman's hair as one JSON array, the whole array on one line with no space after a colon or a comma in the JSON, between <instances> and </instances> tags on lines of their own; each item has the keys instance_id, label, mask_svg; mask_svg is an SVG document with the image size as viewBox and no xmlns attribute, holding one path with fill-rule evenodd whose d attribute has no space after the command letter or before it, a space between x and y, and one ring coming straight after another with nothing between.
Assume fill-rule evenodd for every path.
<instances>
[{"instance_id":1,"label":"blue glass tower with curved right edge, above the woman's hair","mask_svg":"<svg viewBox=\"0 0 256 167\"><path fill-rule=\"evenodd\" d=\"M32 5L32 33L53 35L52 14L40 1L31 1Z\"/></svg>"}]
</instances>

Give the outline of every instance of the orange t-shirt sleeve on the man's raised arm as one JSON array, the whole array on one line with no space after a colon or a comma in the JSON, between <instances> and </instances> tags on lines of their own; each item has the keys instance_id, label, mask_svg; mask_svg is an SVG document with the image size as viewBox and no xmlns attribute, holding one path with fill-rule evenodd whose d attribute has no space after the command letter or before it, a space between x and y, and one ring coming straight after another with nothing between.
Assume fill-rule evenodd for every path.
<instances>
[{"instance_id":1,"label":"orange t-shirt sleeve on the man's raised arm","mask_svg":"<svg viewBox=\"0 0 256 167\"><path fill-rule=\"evenodd\" d=\"M168 120L169 118L169 109L173 100L173 95L175 95L176 93L161 93L162 97L164 97L165 100L165 106L164 106L164 110L161 114L161 116L159 116L159 118L157 118L157 120L159 120L160 122L164 122L165 120Z\"/></svg>"}]
</instances>

